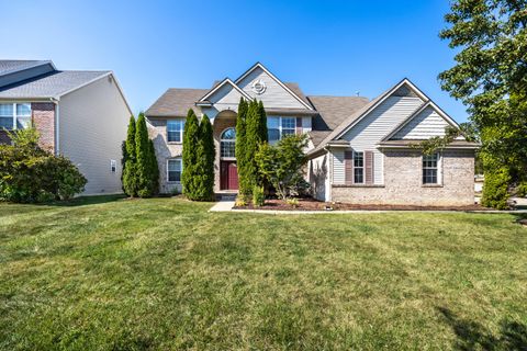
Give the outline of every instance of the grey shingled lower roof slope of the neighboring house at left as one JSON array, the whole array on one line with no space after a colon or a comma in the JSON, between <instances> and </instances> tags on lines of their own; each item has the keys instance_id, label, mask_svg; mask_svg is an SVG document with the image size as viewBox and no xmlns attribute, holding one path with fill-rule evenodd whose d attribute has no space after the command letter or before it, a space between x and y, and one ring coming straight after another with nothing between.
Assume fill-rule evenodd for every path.
<instances>
[{"instance_id":1,"label":"grey shingled lower roof slope of the neighboring house at left","mask_svg":"<svg viewBox=\"0 0 527 351\"><path fill-rule=\"evenodd\" d=\"M111 71L54 71L1 87L0 99L57 98L109 75Z\"/></svg>"}]
</instances>

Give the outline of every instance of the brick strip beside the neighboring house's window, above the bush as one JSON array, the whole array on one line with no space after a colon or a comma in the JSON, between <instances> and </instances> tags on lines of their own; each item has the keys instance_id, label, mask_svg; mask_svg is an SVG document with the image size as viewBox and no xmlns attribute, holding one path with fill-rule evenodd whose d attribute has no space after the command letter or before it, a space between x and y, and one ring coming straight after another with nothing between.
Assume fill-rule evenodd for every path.
<instances>
[{"instance_id":1,"label":"brick strip beside the neighboring house's window, above the bush","mask_svg":"<svg viewBox=\"0 0 527 351\"><path fill-rule=\"evenodd\" d=\"M31 111L33 126L41 134L41 147L55 152L55 104L33 102Z\"/></svg>"}]
</instances>

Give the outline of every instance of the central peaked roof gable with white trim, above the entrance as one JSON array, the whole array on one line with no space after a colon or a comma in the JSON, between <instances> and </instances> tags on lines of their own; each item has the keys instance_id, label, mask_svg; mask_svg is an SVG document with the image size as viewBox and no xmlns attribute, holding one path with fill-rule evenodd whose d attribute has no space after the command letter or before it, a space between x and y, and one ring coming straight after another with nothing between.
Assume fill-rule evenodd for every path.
<instances>
[{"instance_id":1,"label":"central peaked roof gable with white trim, above the entrance","mask_svg":"<svg viewBox=\"0 0 527 351\"><path fill-rule=\"evenodd\" d=\"M262 81L266 86L262 93L253 90L253 84L257 81ZM251 98L264 101L266 106L314 110L306 99L302 99L298 86L282 82L260 63L256 63L234 82Z\"/></svg>"}]
</instances>

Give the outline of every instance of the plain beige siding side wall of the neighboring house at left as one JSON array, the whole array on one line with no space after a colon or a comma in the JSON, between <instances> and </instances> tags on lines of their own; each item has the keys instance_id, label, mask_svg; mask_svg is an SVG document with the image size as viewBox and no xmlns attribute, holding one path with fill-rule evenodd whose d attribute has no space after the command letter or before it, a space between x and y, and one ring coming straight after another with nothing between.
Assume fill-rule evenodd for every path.
<instances>
[{"instance_id":1,"label":"plain beige siding side wall of the neighboring house at left","mask_svg":"<svg viewBox=\"0 0 527 351\"><path fill-rule=\"evenodd\" d=\"M86 195L121 193L121 143L131 112L110 77L70 92L59 102L59 152L88 179ZM110 160L115 160L112 173Z\"/></svg>"}]
</instances>

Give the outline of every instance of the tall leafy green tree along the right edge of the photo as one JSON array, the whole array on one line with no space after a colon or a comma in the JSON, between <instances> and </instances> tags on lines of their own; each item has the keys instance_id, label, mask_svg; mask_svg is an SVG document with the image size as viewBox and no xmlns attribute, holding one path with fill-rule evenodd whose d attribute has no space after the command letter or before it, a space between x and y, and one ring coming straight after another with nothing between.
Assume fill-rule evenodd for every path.
<instances>
[{"instance_id":1,"label":"tall leafy green tree along the right edge of the photo","mask_svg":"<svg viewBox=\"0 0 527 351\"><path fill-rule=\"evenodd\" d=\"M482 203L496 208L506 207L506 189L527 178L526 9L525 0L458 0L440 33L459 53L439 79L481 133Z\"/></svg>"}]
</instances>

